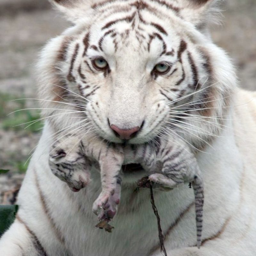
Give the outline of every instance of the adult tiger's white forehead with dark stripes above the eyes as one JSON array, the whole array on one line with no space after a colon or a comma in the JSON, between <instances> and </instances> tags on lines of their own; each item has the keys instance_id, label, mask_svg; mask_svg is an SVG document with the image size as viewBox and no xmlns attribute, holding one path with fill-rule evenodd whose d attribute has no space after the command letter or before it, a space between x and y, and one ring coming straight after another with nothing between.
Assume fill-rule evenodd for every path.
<instances>
[{"instance_id":1,"label":"adult tiger's white forehead with dark stripes above the eyes","mask_svg":"<svg viewBox=\"0 0 256 256\"><path fill-rule=\"evenodd\" d=\"M88 52L92 49L113 55L118 51L132 50L154 56L171 55L180 39L175 40L178 36L171 26L166 29L170 19L148 4L141 5L143 2L139 6L124 3L122 8L114 5L106 9L103 5L98 9L98 15L84 39Z\"/></svg>"}]
</instances>

